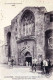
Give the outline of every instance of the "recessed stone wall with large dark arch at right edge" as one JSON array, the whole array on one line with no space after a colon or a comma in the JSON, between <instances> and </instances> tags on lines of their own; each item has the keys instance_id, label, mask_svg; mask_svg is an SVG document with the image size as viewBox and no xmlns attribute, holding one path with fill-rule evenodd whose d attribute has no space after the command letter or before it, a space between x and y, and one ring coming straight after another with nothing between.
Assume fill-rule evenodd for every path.
<instances>
[{"instance_id":1,"label":"recessed stone wall with large dark arch at right edge","mask_svg":"<svg viewBox=\"0 0 53 80\"><path fill-rule=\"evenodd\" d=\"M53 64L53 21L51 21L51 14L53 12L45 14L45 55Z\"/></svg>"}]
</instances>

